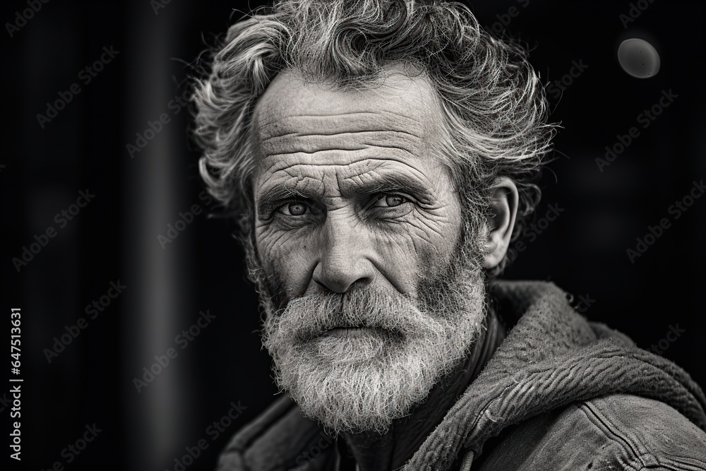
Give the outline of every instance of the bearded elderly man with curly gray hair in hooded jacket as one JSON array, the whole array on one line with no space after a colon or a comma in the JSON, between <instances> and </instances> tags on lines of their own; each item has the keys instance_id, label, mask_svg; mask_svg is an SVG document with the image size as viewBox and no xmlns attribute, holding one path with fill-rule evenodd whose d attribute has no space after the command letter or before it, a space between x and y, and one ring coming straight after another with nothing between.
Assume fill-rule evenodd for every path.
<instances>
[{"instance_id":1,"label":"bearded elderly man with curly gray hair in hooded jacket","mask_svg":"<svg viewBox=\"0 0 706 471\"><path fill-rule=\"evenodd\" d=\"M195 97L287 392L221 470L706 469L683 370L496 279L554 128L525 51L465 6L277 2Z\"/></svg>"}]
</instances>

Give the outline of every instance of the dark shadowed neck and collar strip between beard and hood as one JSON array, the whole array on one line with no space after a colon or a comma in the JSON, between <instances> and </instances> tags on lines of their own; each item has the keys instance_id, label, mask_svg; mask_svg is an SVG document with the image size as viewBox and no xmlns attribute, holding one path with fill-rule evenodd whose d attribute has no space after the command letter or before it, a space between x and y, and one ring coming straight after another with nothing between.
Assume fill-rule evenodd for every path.
<instances>
[{"instance_id":1,"label":"dark shadowed neck and collar strip between beard and hood","mask_svg":"<svg viewBox=\"0 0 706 471\"><path fill-rule=\"evenodd\" d=\"M432 388L424 403L417 406L411 415L395 420L385 434L376 431L343 434L360 471L395 470L412 458L478 376L504 338L502 327L493 312L486 316L484 325L486 328L481 330L466 359Z\"/></svg>"}]
</instances>

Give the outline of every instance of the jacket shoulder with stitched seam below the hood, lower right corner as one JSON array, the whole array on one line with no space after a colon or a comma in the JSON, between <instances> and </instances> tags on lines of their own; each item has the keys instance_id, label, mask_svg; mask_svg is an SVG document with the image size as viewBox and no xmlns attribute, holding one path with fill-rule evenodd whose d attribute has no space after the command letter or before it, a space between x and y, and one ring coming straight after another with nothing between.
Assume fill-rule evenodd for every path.
<instances>
[{"instance_id":1,"label":"jacket shoulder with stitched seam below the hood, lower right corner","mask_svg":"<svg viewBox=\"0 0 706 471\"><path fill-rule=\"evenodd\" d=\"M605 395L508 430L478 468L496 469L706 470L706 433L658 400Z\"/></svg>"}]
</instances>

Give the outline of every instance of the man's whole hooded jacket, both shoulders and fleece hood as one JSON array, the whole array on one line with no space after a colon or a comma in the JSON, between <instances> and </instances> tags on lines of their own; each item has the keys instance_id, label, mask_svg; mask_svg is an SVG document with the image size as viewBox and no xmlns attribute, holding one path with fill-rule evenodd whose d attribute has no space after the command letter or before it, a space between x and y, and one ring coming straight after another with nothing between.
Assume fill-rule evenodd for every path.
<instances>
[{"instance_id":1,"label":"man's whole hooded jacket, both shoulders and fleece hood","mask_svg":"<svg viewBox=\"0 0 706 471\"><path fill-rule=\"evenodd\" d=\"M403 470L706 470L706 398L683 369L586 321L552 283L491 292L512 328ZM218 470L333 471L340 445L282 398Z\"/></svg>"}]
</instances>

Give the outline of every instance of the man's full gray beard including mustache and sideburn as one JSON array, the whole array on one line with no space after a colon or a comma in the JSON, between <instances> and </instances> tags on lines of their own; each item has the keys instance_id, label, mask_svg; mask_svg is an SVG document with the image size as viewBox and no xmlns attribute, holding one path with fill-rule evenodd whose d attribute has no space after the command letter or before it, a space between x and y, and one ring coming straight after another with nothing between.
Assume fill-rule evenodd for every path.
<instances>
[{"instance_id":1,"label":"man's full gray beard including mustache and sideburn","mask_svg":"<svg viewBox=\"0 0 706 471\"><path fill-rule=\"evenodd\" d=\"M478 241L477 234L469 239ZM414 298L354 284L345 293L293 297L276 309L282 296L270 293L281 290L271 289L273 278L255 277L277 386L334 434L388 431L467 357L484 328L485 273L476 245L457 246L450 261L424 270L432 275L420 276Z\"/></svg>"}]
</instances>

